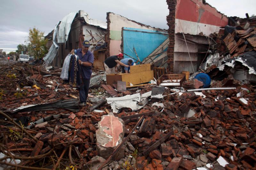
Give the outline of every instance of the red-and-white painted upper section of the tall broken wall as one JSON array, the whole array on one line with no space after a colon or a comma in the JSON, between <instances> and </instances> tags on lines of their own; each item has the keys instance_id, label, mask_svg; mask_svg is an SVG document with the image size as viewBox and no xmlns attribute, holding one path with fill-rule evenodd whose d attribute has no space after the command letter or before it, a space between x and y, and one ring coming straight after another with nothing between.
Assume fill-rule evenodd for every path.
<instances>
[{"instance_id":1,"label":"red-and-white painted upper section of the tall broken wall","mask_svg":"<svg viewBox=\"0 0 256 170\"><path fill-rule=\"evenodd\" d=\"M210 35L228 25L228 18L202 0L177 0L175 25L175 33Z\"/></svg>"}]
</instances>

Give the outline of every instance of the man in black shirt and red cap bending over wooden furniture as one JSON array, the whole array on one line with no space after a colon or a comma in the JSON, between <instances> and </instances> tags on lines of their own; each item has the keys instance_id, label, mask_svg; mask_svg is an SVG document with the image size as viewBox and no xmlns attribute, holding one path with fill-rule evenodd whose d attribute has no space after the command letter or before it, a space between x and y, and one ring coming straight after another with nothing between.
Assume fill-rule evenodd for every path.
<instances>
[{"instance_id":1,"label":"man in black shirt and red cap bending over wooden furniture","mask_svg":"<svg viewBox=\"0 0 256 170\"><path fill-rule=\"evenodd\" d=\"M124 58L124 55L122 53L119 53L118 55L112 55L108 57L104 62L104 67L106 70L106 75L108 74L115 74L117 71L117 64L120 64L124 67L129 67L129 65L126 65L122 62L120 62L121 59Z\"/></svg>"}]
</instances>

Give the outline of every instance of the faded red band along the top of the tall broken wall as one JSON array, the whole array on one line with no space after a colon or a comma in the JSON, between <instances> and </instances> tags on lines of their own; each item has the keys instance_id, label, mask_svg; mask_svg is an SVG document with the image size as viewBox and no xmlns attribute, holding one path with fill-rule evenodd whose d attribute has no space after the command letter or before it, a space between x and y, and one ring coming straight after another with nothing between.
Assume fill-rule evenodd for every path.
<instances>
[{"instance_id":1,"label":"faded red band along the top of the tall broken wall","mask_svg":"<svg viewBox=\"0 0 256 170\"><path fill-rule=\"evenodd\" d=\"M228 18L201 0L177 0L176 19L214 26L228 25Z\"/></svg>"}]
</instances>

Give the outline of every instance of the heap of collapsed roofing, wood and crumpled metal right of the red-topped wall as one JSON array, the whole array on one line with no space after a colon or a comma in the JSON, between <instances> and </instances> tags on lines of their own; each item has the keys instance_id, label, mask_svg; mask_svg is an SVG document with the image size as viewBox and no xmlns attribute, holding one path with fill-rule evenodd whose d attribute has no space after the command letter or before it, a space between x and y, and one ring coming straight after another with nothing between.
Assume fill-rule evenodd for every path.
<instances>
[{"instance_id":1,"label":"heap of collapsed roofing, wood and crumpled metal right of the red-topped wall","mask_svg":"<svg viewBox=\"0 0 256 170\"><path fill-rule=\"evenodd\" d=\"M216 51L209 55L202 69L215 65L217 68L209 74L215 80L232 75L244 84L255 84L256 27L250 26L249 22L243 27L235 23L236 26L220 29L216 36Z\"/></svg>"}]
</instances>

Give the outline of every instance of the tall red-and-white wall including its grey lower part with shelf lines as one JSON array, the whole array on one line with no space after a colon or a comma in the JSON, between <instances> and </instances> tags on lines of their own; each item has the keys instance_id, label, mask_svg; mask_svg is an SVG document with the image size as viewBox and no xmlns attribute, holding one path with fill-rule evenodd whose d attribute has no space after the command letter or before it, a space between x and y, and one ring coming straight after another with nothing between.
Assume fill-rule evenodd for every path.
<instances>
[{"instance_id":1,"label":"tall red-and-white wall including its grey lower part with shelf lines","mask_svg":"<svg viewBox=\"0 0 256 170\"><path fill-rule=\"evenodd\" d=\"M173 4L169 0L166 2L168 5ZM192 73L193 68L196 71L203 60L202 54L198 55L201 47L188 41L186 45L183 35L178 33L190 34L190 36L185 35L187 40L209 44L210 39L206 36L214 32L218 33L220 27L228 25L228 18L202 0L177 0L175 9L170 9L170 13L174 13L173 10L175 10L173 72L189 71ZM206 36L199 36L201 32ZM210 44L214 44L214 41Z\"/></svg>"}]
</instances>

